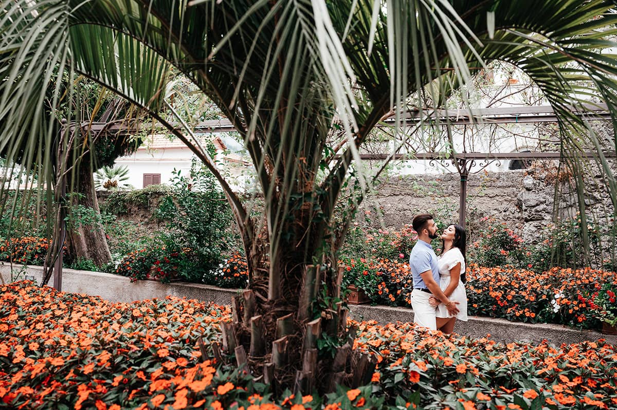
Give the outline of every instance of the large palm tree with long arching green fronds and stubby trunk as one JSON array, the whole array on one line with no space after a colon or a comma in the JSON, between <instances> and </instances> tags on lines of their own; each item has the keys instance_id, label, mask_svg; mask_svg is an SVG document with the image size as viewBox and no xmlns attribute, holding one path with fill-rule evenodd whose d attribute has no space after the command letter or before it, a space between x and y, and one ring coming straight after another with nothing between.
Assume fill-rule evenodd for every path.
<instances>
[{"instance_id":1,"label":"large palm tree with long arching green fronds and stubby trunk","mask_svg":"<svg viewBox=\"0 0 617 410\"><path fill-rule=\"evenodd\" d=\"M180 138L220 182L249 264L249 289L232 302L234 321L223 326L223 347L283 386L328 390L370 375L370 359L350 352L354 332L345 326L336 264L370 187L358 147L385 118L400 124L408 109L428 114L442 107L486 62L505 60L536 81L557 113L563 154L576 165L581 147L595 147L616 203L602 139L589 118L572 110L605 102L617 114L617 60L603 54L615 46L611 1L0 4L2 145L28 139L25 168L54 184L49 154L39 149L40 141L54 137L39 115L39 90L57 67L143 107ZM260 218L249 215L190 129L165 120L175 114L165 99L173 73L193 81L238 129L265 198ZM352 200L342 201L343 192ZM342 223L334 223L337 209ZM321 337L336 340L334 359L318 355ZM357 366L349 373L346 363Z\"/></svg>"}]
</instances>

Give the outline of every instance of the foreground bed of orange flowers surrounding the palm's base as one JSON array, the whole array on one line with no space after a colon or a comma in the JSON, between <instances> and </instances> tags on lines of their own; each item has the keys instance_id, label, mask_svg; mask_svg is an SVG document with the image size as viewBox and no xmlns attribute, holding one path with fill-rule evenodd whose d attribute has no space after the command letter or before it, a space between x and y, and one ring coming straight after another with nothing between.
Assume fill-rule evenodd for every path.
<instances>
[{"instance_id":1,"label":"foreground bed of orange flowers surrounding the palm's base","mask_svg":"<svg viewBox=\"0 0 617 410\"><path fill-rule=\"evenodd\" d=\"M273 400L250 377L201 361L197 337L218 340L226 307L109 303L31 282L0 291L0 408L617 408L617 348L601 342L503 345L362 322L355 345L378 359L371 385Z\"/></svg>"}]
</instances>

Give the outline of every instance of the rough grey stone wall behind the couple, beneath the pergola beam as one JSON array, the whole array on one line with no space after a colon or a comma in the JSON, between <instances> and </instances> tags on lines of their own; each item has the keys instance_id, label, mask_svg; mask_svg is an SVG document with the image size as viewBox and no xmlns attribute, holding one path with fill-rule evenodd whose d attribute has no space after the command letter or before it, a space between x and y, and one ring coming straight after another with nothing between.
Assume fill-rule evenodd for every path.
<instances>
[{"instance_id":1,"label":"rough grey stone wall behind the couple, beneath the pergola beam","mask_svg":"<svg viewBox=\"0 0 617 410\"><path fill-rule=\"evenodd\" d=\"M596 220L603 220L613 212L599 175L586 175L588 184L597 183L586 197L586 208ZM558 216L571 218L578 207L566 182L560 184ZM471 235L485 217L503 221L523 236L534 241L547 224L553 220L555 182L546 170L506 171L500 173L471 174L467 184L467 228ZM458 223L460 177L458 174L426 174L386 181L362 205L363 211L378 207L382 221L388 229L398 229L410 224L413 216L428 212L444 223ZM363 218L363 212L359 218ZM373 213L373 215L375 215ZM373 224L378 225L377 218Z\"/></svg>"}]
</instances>

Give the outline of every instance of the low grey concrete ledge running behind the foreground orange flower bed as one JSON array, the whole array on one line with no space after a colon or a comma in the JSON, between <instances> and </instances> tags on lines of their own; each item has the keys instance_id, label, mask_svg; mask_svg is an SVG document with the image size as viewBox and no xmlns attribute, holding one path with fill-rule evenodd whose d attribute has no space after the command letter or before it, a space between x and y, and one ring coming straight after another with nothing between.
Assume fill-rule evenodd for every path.
<instances>
[{"instance_id":1,"label":"low grey concrete ledge running behind the foreground orange flower bed","mask_svg":"<svg viewBox=\"0 0 617 410\"><path fill-rule=\"evenodd\" d=\"M13 276L11 276L10 266L0 265L0 275L4 283L12 282L12 279L23 280L25 274L33 276L36 282L41 282L43 276L41 266L28 266L25 272L21 268L19 265L14 265ZM53 279L49 283L53 283ZM230 298L239 292L239 290L185 282L161 284L154 281L138 281L131 283L130 279L124 276L74 269L62 269L62 290L71 293L86 293L114 302L164 298L170 295L212 301L218 305L228 305ZM350 305L349 310L350 318L356 320L374 320L381 324L413 322L413 311L410 308ZM576 330L555 324L528 324L478 316L470 316L468 322L457 321L454 331L469 337L485 337L490 334L492 339L502 342L514 342L515 340L540 342L545 339L550 343L560 345L561 343L606 339L607 342L617 345L616 335L604 335L592 330Z\"/></svg>"}]
</instances>

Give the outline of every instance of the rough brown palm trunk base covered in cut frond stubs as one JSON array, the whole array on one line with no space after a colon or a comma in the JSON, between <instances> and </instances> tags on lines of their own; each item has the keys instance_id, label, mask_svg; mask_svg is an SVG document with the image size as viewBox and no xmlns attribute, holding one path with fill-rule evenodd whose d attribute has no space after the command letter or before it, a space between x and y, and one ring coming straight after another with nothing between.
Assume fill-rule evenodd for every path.
<instances>
[{"instance_id":1,"label":"rough brown palm trunk base covered in cut frond stubs","mask_svg":"<svg viewBox=\"0 0 617 410\"><path fill-rule=\"evenodd\" d=\"M308 223L306 217L302 220ZM306 227L305 223L299 225ZM222 326L215 358L245 366L273 385L276 393L286 388L303 394L313 389L325 393L337 385L357 387L370 382L376 361L353 350L355 329L347 327L347 309L340 293L342 271L336 268L333 255L319 257L323 265L307 263L317 256L317 247L307 246L309 239L301 229L282 244L271 244L266 237L255 240L263 242L253 247L262 253L247 250L254 266L251 284L231 300L232 319ZM273 246L278 255L263 254ZM277 261L276 266L257 267L257 261L270 258ZM270 282L273 270L280 280L275 289L278 298L271 298L276 285ZM320 338L336 340L337 346L331 353L320 354Z\"/></svg>"}]
</instances>

